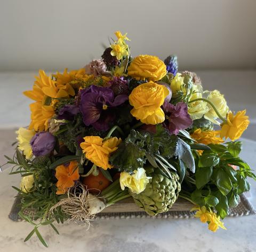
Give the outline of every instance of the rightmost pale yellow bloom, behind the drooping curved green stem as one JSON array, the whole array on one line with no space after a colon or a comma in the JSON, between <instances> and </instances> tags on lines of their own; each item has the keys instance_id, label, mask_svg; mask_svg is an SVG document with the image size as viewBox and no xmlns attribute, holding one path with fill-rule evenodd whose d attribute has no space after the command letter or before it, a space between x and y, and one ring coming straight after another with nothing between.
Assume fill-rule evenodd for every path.
<instances>
[{"instance_id":1,"label":"rightmost pale yellow bloom, behind the drooping curved green stem","mask_svg":"<svg viewBox=\"0 0 256 252\"><path fill-rule=\"evenodd\" d=\"M207 99L213 103L213 105L217 108L218 112L222 117L226 117L229 108L227 106L227 102L224 96L221 95L218 90L211 91L210 94L207 96ZM209 103L207 103L207 107L209 108L209 111L204 115L204 117L211 122L219 125L220 123L216 120L218 118L218 115Z\"/></svg>"}]
</instances>

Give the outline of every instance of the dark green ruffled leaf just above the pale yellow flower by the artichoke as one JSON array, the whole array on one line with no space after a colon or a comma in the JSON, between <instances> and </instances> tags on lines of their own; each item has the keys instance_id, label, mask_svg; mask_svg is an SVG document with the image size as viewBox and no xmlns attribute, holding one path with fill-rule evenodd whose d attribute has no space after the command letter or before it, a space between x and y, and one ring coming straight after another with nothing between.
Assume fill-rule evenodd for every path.
<instances>
[{"instance_id":1,"label":"dark green ruffled leaf just above the pale yellow flower by the artichoke","mask_svg":"<svg viewBox=\"0 0 256 252\"><path fill-rule=\"evenodd\" d=\"M122 142L115 153L113 153L109 162L118 171L133 172L142 168L145 164L145 149L141 149L132 142Z\"/></svg>"}]
</instances>

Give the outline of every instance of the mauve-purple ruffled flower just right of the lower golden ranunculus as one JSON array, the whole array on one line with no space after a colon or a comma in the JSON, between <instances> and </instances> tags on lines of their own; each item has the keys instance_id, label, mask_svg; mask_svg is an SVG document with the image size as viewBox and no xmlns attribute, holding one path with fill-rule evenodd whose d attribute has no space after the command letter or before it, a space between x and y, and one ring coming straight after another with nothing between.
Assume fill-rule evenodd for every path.
<instances>
[{"instance_id":1,"label":"mauve-purple ruffled flower just right of the lower golden ranunculus","mask_svg":"<svg viewBox=\"0 0 256 252\"><path fill-rule=\"evenodd\" d=\"M188 114L186 103L177 103L176 106L171 103L163 104L166 120L163 125L171 134L177 135L180 130L187 129L193 120Z\"/></svg>"}]
</instances>

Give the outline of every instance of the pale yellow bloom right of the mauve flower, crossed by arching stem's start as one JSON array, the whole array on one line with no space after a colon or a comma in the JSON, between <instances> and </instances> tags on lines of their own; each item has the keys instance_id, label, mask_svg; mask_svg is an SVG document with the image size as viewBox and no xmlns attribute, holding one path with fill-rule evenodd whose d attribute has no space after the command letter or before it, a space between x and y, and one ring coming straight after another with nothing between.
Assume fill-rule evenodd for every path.
<instances>
[{"instance_id":1,"label":"pale yellow bloom right of the mauve flower, crossed by arching stem's start","mask_svg":"<svg viewBox=\"0 0 256 252\"><path fill-rule=\"evenodd\" d=\"M193 94L191 95L189 100L194 100L198 98L202 98L202 93L198 90L197 86L194 85ZM207 103L203 100L197 100L194 103L188 104L188 113L193 121L202 118L203 115L208 111L209 108L207 107Z\"/></svg>"}]
</instances>

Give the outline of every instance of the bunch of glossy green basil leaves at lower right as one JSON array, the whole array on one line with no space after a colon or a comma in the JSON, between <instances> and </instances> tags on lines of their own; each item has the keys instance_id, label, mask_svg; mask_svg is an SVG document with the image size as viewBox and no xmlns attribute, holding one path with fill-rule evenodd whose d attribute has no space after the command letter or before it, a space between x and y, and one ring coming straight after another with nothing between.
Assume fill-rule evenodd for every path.
<instances>
[{"instance_id":1,"label":"bunch of glossy green basil leaves at lower right","mask_svg":"<svg viewBox=\"0 0 256 252\"><path fill-rule=\"evenodd\" d=\"M199 206L215 209L223 219L229 207L236 207L239 195L250 190L247 177L255 179L250 166L238 157L241 142L227 142L225 145L208 145L201 156L194 155L195 174L185 175L189 185L181 195ZM237 165L234 170L230 165Z\"/></svg>"}]
</instances>

